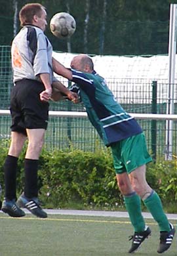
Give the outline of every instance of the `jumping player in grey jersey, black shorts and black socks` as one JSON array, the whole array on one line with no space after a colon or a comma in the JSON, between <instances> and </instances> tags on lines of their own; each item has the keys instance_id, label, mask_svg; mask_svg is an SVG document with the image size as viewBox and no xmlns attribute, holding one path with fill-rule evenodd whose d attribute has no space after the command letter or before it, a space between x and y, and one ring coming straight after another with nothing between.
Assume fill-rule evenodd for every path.
<instances>
[{"instance_id":1,"label":"jumping player in grey jersey, black shorts and black socks","mask_svg":"<svg viewBox=\"0 0 177 256\"><path fill-rule=\"evenodd\" d=\"M12 41L12 69L14 87L10 97L12 117L11 143L5 160L5 200L2 211L12 217L25 215L26 207L37 217L47 217L38 200L37 169L39 154L48 123L49 100L52 85L70 100L77 98L54 78L52 45L44 34L47 12L39 3L31 3L20 11L22 30ZM16 202L16 170L18 156L28 139L24 160L24 193Z\"/></svg>"}]
</instances>

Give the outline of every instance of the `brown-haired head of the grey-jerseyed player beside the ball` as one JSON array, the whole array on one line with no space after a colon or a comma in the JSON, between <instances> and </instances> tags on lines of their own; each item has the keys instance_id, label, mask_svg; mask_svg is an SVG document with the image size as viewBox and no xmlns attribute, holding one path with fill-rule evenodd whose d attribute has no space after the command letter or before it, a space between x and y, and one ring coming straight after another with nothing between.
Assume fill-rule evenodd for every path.
<instances>
[{"instance_id":1,"label":"brown-haired head of the grey-jerseyed player beside the ball","mask_svg":"<svg viewBox=\"0 0 177 256\"><path fill-rule=\"evenodd\" d=\"M24 5L19 13L20 25L35 25L45 31L47 26L47 13L45 7L40 3L28 3Z\"/></svg>"}]
</instances>

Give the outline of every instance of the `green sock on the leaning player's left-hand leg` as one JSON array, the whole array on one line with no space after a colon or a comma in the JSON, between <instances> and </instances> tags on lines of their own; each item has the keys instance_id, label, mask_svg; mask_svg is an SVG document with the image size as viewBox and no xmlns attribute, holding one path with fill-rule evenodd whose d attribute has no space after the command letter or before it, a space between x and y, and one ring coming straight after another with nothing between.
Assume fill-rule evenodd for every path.
<instances>
[{"instance_id":1,"label":"green sock on the leaning player's left-hand leg","mask_svg":"<svg viewBox=\"0 0 177 256\"><path fill-rule=\"evenodd\" d=\"M142 232L145 228L144 217L142 216L141 200L136 192L124 196L125 206L130 217L134 232Z\"/></svg>"}]
</instances>

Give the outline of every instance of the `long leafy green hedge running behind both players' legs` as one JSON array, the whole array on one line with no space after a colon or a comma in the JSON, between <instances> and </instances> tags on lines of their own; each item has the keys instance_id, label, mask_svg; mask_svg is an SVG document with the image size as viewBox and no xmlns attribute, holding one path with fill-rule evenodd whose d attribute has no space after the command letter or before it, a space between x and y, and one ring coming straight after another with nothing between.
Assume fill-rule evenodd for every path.
<instances>
[{"instance_id":1,"label":"long leafy green hedge running behind both players' legs","mask_svg":"<svg viewBox=\"0 0 177 256\"><path fill-rule=\"evenodd\" d=\"M24 154L18 161L17 194L23 190ZM7 156L7 141L0 145L0 182L3 182L3 163ZM147 165L147 181L159 193L163 203L177 203L176 161L157 161ZM95 152L82 150L43 149L39 160L39 197L44 207L80 207L89 209L124 207L123 197L117 188L113 160L109 148ZM76 206L77 205L77 206ZM173 207L171 211L175 211ZM177 209L176 209L177 212Z\"/></svg>"}]
</instances>

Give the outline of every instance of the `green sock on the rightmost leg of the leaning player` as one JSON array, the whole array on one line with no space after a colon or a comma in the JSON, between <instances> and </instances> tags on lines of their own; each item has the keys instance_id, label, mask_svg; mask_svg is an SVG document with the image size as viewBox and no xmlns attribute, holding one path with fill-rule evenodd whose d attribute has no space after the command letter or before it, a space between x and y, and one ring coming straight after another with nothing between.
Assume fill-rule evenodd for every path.
<instances>
[{"instance_id":1,"label":"green sock on the rightmost leg of the leaning player","mask_svg":"<svg viewBox=\"0 0 177 256\"><path fill-rule=\"evenodd\" d=\"M153 216L153 219L157 221L159 224L160 231L170 231L169 222L167 216L163 211L163 205L161 203L161 199L159 198L158 194L153 191L146 200L144 200L144 204L146 205L147 209Z\"/></svg>"}]
</instances>

